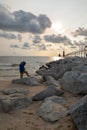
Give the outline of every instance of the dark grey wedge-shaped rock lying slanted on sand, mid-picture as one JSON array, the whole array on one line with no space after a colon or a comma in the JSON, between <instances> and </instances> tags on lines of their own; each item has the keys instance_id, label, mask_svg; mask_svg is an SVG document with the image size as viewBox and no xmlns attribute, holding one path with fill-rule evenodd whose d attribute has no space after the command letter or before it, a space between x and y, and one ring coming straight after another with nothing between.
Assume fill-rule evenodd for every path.
<instances>
[{"instance_id":1,"label":"dark grey wedge-shaped rock lying slanted on sand, mid-picture","mask_svg":"<svg viewBox=\"0 0 87 130\"><path fill-rule=\"evenodd\" d=\"M50 86L48 87L46 90L41 91L39 93L37 93L35 96L32 97L33 101L40 101L40 100L44 100L46 97L50 97L50 96L60 96L62 95L64 92L62 90L58 90L56 89L55 86Z\"/></svg>"}]
</instances>

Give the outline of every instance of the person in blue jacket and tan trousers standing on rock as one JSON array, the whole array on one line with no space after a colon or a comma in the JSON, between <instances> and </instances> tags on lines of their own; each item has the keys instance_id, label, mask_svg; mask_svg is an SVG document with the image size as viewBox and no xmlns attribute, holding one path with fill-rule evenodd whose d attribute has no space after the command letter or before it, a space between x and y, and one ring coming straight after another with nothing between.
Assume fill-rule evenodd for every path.
<instances>
[{"instance_id":1,"label":"person in blue jacket and tan trousers standing on rock","mask_svg":"<svg viewBox=\"0 0 87 130\"><path fill-rule=\"evenodd\" d=\"M28 74L28 72L27 72L26 69L25 69L25 65L26 65L26 62L25 62L25 61L22 61L22 62L19 64L19 71L20 71L20 78L21 78L21 79L23 78L23 74L26 74L26 75L29 77L29 74Z\"/></svg>"}]
</instances>

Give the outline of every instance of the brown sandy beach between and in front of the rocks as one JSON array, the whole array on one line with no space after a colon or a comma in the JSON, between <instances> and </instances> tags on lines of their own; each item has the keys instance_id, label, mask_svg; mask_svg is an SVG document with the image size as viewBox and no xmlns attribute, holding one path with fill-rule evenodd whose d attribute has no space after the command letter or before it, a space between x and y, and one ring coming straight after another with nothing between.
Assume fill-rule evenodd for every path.
<instances>
[{"instance_id":1,"label":"brown sandy beach between and in front of the rocks","mask_svg":"<svg viewBox=\"0 0 87 130\"><path fill-rule=\"evenodd\" d=\"M29 89L29 97L44 90L45 85L42 86L25 86L19 84L12 84L11 81L0 80L0 90L5 88L27 88ZM67 99L66 107L71 106L80 97L64 92L62 95ZM37 115L37 111L42 101L35 101L29 107L4 113L0 110L0 130L77 130L70 115L61 118L55 123L48 123Z\"/></svg>"}]
</instances>

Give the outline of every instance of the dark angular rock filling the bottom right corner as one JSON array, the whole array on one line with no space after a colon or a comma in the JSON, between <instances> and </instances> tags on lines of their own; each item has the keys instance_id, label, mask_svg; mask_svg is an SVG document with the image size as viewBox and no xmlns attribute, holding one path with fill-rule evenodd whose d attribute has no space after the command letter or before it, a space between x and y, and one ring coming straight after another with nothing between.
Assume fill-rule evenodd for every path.
<instances>
[{"instance_id":1,"label":"dark angular rock filling the bottom right corner","mask_svg":"<svg viewBox=\"0 0 87 130\"><path fill-rule=\"evenodd\" d=\"M87 130L87 95L71 106L70 113L78 130Z\"/></svg>"}]
</instances>

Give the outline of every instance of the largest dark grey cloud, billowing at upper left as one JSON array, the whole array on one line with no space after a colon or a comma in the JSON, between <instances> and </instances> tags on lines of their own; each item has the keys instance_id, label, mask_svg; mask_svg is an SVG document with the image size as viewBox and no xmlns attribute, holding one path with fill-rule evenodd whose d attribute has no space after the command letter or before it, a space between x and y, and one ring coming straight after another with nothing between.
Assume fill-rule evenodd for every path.
<instances>
[{"instance_id":1,"label":"largest dark grey cloud, billowing at upper left","mask_svg":"<svg viewBox=\"0 0 87 130\"><path fill-rule=\"evenodd\" d=\"M51 21L46 15L36 16L23 10L10 12L0 5L0 29L6 31L43 33L51 27Z\"/></svg>"}]
</instances>

